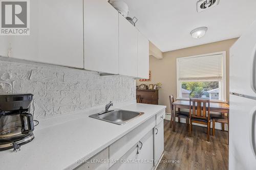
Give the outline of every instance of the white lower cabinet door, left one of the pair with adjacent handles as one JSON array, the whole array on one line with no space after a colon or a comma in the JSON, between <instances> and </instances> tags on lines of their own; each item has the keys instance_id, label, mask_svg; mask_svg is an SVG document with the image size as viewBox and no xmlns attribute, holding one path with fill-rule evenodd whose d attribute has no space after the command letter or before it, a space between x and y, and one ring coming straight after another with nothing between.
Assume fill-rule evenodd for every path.
<instances>
[{"instance_id":1,"label":"white lower cabinet door, left one of the pair with adjacent handles","mask_svg":"<svg viewBox=\"0 0 256 170\"><path fill-rule=\"evenodd\" d=\"M120 159L119 162L115 163L110 169L111 170L135 170L139 169L139 163L136 162L138 159L139 143L135 144L128 152L126 152Z\"/></svg>"}]
</instances>

